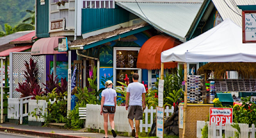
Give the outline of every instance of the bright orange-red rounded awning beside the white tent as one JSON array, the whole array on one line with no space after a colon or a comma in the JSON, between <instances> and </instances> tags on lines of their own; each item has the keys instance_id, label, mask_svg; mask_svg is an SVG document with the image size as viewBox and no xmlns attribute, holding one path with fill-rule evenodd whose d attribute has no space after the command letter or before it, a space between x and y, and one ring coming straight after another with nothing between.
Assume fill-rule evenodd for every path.
<instances>
[{"instance_id":1,"label":"bright orange-red rounded awning beside the white tent","mask_svg":"<svg viewBox=\"0 0 256 138\"><path fill-rule=\"evenodd\" d=\"M153 36L141 46L137 67L140 69L160 69L161 52L179 45L181 42L175 38L164 35ZM164 69L177 67L177 63L164 63Z\"/></svg>"}]
</instances>

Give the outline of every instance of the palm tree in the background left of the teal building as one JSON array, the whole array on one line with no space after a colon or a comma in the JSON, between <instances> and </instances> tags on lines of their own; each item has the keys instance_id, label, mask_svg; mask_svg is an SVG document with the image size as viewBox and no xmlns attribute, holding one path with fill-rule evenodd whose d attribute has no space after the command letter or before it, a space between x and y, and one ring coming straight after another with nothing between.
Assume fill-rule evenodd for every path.
<instances>
[{"instance_id":1,"label":"palm tree in the background left of the teal building","mask_svg":"<svg viewBox=\"0 0 256 138\"><path fill-rule=\"evenodd\" d=\"M21 24L17 25L16 31L28 31L28 30L35 30L35 11L26 10L28 13L31 14L31 17L28 17L22 21ZM25 23L25 22L30 22Z\"/></svg>"}]
</instances>

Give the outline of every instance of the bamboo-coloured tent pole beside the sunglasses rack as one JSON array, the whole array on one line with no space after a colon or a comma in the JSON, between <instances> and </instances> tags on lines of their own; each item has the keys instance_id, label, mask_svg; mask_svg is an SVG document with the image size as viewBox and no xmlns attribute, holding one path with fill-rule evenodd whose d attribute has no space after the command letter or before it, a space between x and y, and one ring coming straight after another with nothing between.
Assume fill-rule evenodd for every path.
<instances>
[{"instance_id":1,"label":"bamboo-coloured tent pole beside the sunglasses rack","mask_svg":"<svg viewBox=\"0 0 256 138\"><path fill-rule=\"evenodd\" d=\"M184 111L183 111L183 133L182 138L186 137L186 114L187 114L187 102L188 102L188 82L187 82L187 63L184 63L184 81L185 81L185 92L184 92Z\"/></svg>"}]
</instances>

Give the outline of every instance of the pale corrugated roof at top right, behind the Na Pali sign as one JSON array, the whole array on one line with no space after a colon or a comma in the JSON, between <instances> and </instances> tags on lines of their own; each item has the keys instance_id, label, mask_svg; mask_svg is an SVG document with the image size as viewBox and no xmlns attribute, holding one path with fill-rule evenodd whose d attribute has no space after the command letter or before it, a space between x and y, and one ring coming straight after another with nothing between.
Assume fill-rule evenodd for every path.
<instances>
[{"instance_id":1,"label":"pale corrugated roof at top right, behind the Na Pali sign","mask_svg":"<svg viewBox=\"0 0 256 138\"><path fill-rule=\"evenodd\" d=\"M255 0L212 0L212 3L219 11L223 20L230 18L237 25L242 27L242 10L237 5L255 5Z\"/></svg>"}]
</instances>

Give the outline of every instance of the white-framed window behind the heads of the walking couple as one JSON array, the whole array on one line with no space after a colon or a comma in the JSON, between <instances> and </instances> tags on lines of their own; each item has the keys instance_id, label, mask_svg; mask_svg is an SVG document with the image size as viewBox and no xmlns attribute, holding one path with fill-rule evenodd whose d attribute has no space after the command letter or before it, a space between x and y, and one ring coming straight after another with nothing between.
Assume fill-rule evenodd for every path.
<instances>
[{"instance_id":1,"label":"white-framed window behind the heads of the walking couple","mask_svg":"<svg viewBox=\"0 0 256 138\"><path fill-rule=\"evenodd\" d=\"M132 74L139 74L141 82L141 69L137 68L137 58L140 48L114 48L114 85L120 86L117 81L125 82L125 74L129 78L129 83L132 83Z\"/></svg>"}]
</instances>

